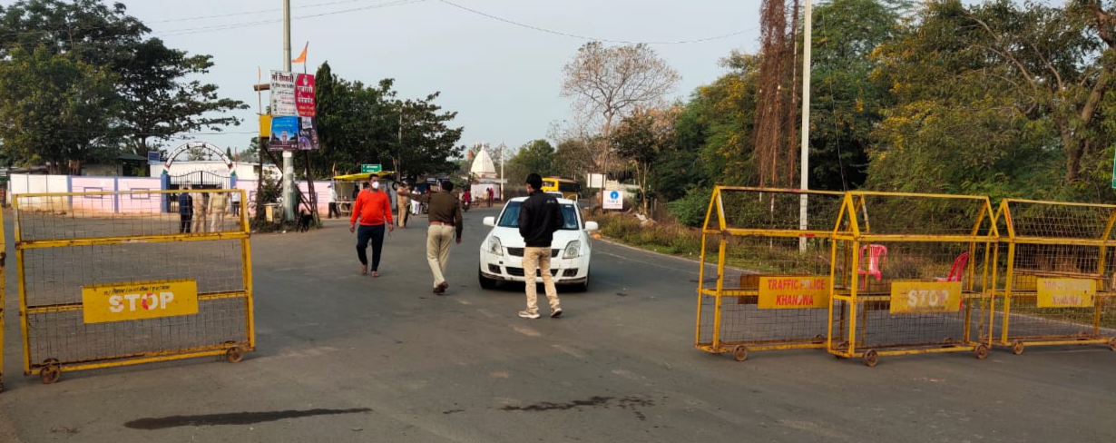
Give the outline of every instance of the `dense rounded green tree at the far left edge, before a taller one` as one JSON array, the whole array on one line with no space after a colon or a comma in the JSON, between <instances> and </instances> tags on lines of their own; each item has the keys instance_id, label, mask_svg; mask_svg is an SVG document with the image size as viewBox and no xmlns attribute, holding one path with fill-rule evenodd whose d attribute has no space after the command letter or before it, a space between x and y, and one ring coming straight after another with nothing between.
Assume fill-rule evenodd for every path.
<instances>
[{"instance_id":1,"label":"dense rounded green tree at the far left edge, before a taller one","mask_svg":"<svg viewBox=\"0 0 1116 443\"><path fill-rule=\"evenodd\" d=\"M22 166L79 174L81 164L113 156L116 102L105 69L47 48L12 48L0 60L0 139Z\"/></svg>"}]
</instances>

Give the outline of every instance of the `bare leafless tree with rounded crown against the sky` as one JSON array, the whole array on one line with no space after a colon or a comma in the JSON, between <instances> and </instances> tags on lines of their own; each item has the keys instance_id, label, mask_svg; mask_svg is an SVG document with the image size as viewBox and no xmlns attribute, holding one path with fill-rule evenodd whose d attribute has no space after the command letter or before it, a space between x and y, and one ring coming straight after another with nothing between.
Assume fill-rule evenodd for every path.
<instances>
[{"instance_id":1,"label":"bare leafless tree with rounded crown against the sky","mask_svg":"<svg viewBox=\"0 0 1116 443\"><path fill-rule=\"evenodd\" d=\"M656 105L674 90L675 71L645 44L606 48L599 41L585 44L562 68L561 96L574 98L574 108L588 118L599 118L604 135L594 150L594 165L609 167L609 134L615 118L637 106Z\"/></svg>"}]
</instances>

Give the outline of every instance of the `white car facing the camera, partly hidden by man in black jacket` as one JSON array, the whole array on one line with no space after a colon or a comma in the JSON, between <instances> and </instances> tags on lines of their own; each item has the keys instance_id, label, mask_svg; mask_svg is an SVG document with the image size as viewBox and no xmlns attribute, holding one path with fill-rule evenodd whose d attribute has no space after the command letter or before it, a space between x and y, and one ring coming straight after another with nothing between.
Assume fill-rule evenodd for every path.
<instances>
[{"instance_id":1,"label":"white car facing the camera, partly hidden by man in black jacket","mask_svg":"<svg viewBox=\"0 0 1116 443\"><path fill-rule=\"evenodd\" d=\"M481 288L491 289L500 281L526 281L523 278L523 238L519 234L519 206L527 198L508 201L499 216L485 216L484 225L492 227L481 242L481 266L478 279ZM589 289L589 231L597 222L586 222L581 211L571 200L558 199L566 224L555 231L550 243L550 275L555 285L571 287L577 291ZM536 276L539 276L536 272ZM536 281L542 282L541 278Z\"/></svg>"}]
</instances>

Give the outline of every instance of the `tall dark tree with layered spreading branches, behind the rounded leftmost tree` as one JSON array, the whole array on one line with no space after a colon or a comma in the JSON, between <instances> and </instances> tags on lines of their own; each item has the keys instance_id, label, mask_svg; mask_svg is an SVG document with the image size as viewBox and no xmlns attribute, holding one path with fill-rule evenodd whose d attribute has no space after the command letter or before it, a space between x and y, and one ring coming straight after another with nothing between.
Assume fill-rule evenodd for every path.
<instances>
[{"instance_id":1,"label":"tall dark tree with layered spreading branches, behind the rounded leftmost tree","mask_svg":"<svg viewBox=\"0 0 1116 443\"><path fill-rule=\"evenodd\" d=\"M66 54L113 73L113 132L131 141L132 151L146 155L151 139L166 141L191 131L220 131L240 121L225 115L247 108L220 98L203 76L213 66L210 56L190 56L167 48L122 3L100 0L23 0L0 9L0 59L13 48ZM193 80L186 78L194 77Z\"/></svg>"}]
</instances>

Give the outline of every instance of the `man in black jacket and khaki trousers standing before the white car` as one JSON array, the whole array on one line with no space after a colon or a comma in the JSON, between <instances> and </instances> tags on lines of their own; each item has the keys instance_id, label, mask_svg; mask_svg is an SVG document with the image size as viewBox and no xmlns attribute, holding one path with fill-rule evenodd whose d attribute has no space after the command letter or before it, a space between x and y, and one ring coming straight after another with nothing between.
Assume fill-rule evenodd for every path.
<instances>
[{"instance_id":1,"label":"man in black jacket and khaki trousers standing before the white car","mask_svg":"<svg viewBox=\"0 0 1116 443\"><path fill-rule=\"evenodd\" d=\"M527 176L527 192L530 196L519 206L519 234L523 237L523 278L527 291L527 310L520 311L522 318L539 318L538 295L535 292L535 270L542 275L542 286L547 299L550 300L550 317L561 315L558 305L558 289L550 276L550 242L554 233L565 224L561 206L554 195L543 193L542 176L531 173Z\"/></svg>"}]
</instances>

